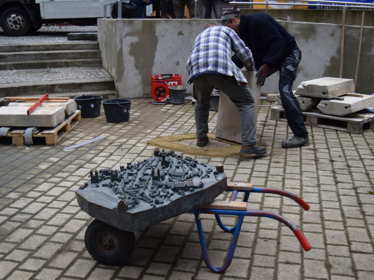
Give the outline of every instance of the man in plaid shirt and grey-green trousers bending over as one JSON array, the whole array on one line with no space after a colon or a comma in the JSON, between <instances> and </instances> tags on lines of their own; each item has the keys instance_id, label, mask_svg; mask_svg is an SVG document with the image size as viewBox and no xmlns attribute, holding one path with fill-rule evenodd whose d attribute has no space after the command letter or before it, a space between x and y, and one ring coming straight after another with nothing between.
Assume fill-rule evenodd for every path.
<instances>
[{"instance_id":1,"label":"man in plaid shirt and grey-green trousers bending over","mask_svg":"<svg viewBox=\"0 0 374 280\"><path fill-rule=\"evenodd\" d=\"M252 53L235 31L225 26L208 24L193 44L187 61L189 83L194 83L197 146L208 143L210 96L215 87L225 92L239 110L241 153L266 154L256 146L254 94L247 79L231 60L232 52L247 70L254 70Z\"/></svg>"}]
</instances>

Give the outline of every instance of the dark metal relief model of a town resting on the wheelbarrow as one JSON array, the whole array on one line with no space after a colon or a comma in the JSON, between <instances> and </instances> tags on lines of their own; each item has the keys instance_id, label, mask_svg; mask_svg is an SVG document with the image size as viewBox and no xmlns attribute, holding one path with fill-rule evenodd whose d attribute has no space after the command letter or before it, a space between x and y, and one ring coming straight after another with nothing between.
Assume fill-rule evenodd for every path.
<instances>
[{"instance_id":1,"label":"dark metal relief model of a town resting on the wheelbarrow","mask_svg":"<svg viewBox=\"0 0 374 280\"><path fill-rule=\"evenodd\" d=\"M223 166L155 150L155 156L120 170L91 171L76 196L90 216L135 232L208 204L226 188Z\"/></svg>"}]
</instances>

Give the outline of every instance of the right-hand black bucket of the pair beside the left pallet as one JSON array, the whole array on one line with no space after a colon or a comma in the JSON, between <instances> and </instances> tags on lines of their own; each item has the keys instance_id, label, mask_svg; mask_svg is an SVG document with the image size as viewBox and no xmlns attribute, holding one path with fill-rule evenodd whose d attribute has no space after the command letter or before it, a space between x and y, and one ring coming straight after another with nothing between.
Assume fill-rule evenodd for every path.
<instances>
[{"instance_id":1,"label":"right-hand black bucket of the pair beside the left pallet","mask_svg":"<svg viewBox=\"0 0 374 280\"><path fill-rule=\"evenodd\" d=\"M124 123L130 118L131 100L124 98L103 101L106 121L108 123Z\"/></svg>"}]
</instances>

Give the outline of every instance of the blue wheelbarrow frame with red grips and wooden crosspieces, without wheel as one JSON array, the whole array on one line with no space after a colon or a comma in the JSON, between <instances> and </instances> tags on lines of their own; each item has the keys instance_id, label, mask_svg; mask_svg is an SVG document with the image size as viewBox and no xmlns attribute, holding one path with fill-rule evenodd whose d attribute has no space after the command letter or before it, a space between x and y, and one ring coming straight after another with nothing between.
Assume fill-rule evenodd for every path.
<instances>
[{"instance_id":1,"label":"blue wheelbarrow frame with red grips and wooden crosspieces, without wheel","mask_svg":"<svg viewBox=\"0 0 374 280\"><path fill-rule=\"evenodd\" d=\"M302 208L304 208L304 210L309 210L309 205L301 197L298 197L290 192L279 190L279 189L253 187L253 184L251 183L228 183L228 187L226 191L231 192L229 201L225 201L225 202L213 201L209 205L205 205L201 208L195 209L190 212L190 213L195 214L195 221L196 221L197 231L199 234L202 256L204 258L205 264L211 271L216 272L216 273L221 273L229 268L232 262L232 259L234 257L234 252L235 252L236 244L239 238L240 229L241 229L244 217L246 216L267 217L267 218L275 219L276 221L285 224L287 227L289 227L292 230L292 232L295 234L295 236L297 237L298 241L300 242L300 244L302 245L305 251L309 251L312 248L308 240L302 233L302 231L297 226L295 226L291 221L289 221L289 219L279 214L268 212L268 211L247 210L248 198L252 192L272 193L272 194L285 196L285 197L291 198L293 201L299 204ZM236 201L236 198L239 192L245 193L242 202ZM200 214L214 214L216 217L216 221L222 230L226 232L234 233L232 237L232 241L231 241L229 255L226 258L225 264L220 268L214 267L209 260L207 245L205 244L205 237L204 237L204 233L203 233L202 225L201 225ZM223 225L220 215L238 216L236 225L232 228L226 227L225 225Z\"/></svg>"}]
</instances>

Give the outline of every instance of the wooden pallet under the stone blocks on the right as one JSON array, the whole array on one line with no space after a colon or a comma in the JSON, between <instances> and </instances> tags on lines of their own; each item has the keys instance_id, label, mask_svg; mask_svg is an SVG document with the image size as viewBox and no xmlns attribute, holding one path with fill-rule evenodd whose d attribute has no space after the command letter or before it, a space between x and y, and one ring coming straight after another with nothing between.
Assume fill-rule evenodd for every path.
<instances>
[{"instance_id":1,"label":"wooden pallet under the stone blocks on the right","mask_svg":"<svg viewBox=\"0 0 374 280\"><path fill-rule=\"evenodd\" d=\"M374 113L356 112L345 116L325 115L319 110L303 111L306 125L340 130L351 133L362 133L363 129L374 128ZM281 106L271 108L271 119L287 122L286 112Z\"/></svg>"}]
</instances>

